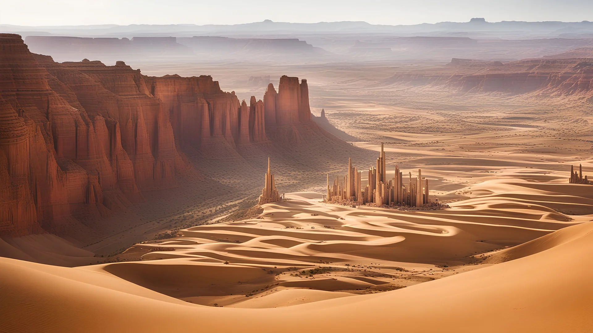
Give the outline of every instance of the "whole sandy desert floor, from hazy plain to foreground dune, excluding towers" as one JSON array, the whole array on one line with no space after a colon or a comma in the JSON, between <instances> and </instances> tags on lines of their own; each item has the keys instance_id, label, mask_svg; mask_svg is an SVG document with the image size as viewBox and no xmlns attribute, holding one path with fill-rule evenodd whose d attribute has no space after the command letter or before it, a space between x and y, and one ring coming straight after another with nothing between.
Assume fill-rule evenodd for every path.
<instances>
[{"instance_id":1,"label":"whole sandy desert floor, from hazy plain to foreground dune, excluding towers","mask_svg":"<svg viewBox=\"0 0 593 333\"><path fill-rule=\"evenodd\" d=\"M287 72L132 66L148 75L207 72L241 98L265 89L247 84L249 76ZM431 66L437 69L421 69L444 64ZM8 314L0 331L593 329L593 191L568 184L570 165L593 171L589 104L390 81L417 70L404 64L288 69L308 79L314 114L323 107L331 123L358 138L352 145L378 151L384 142L388 170L421 168L431 197L450 208L323 203L325 174L343 174L342 156L310 181L300 175L301 191L263 212L233 220L221 208L209 223L170 238L145 240L145 230L130 228L85 249L47 234L5 240L2 251L14 257L77 267L0 258L0 295L10 300L0 303ZM563 117L554 116L559 110ZM354 162L364 169L372 159ZM202 172L223 181L216 168ZM294 188L291 174L275 173L280 191ZM192 207L151 223L202 209ZM113 257L90 252L130 241L138 244Z\"/></svg>"}]
</instances>

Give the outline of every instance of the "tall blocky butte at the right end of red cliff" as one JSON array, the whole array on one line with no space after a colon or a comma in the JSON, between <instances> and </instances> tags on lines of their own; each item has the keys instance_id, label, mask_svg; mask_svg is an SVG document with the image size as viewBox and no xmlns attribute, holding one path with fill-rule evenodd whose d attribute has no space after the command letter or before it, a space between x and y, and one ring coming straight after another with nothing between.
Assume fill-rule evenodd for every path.
<instances>
[{"instance_id":1,"label":"tall blocky butte at the right end of red cliff","mask_svg":"<svg viewBox=\"0 0 593 333\"><path fill-rule=\"evenodd\" d=\"M272 97L276 97L274 100ZM266 109L266 126L274 124L288 125L311 121L309 106L309 88L307 80L283 75L278 85L278 94L272 84L268 85L264 94Z\"/></svg>"}]
</instances>

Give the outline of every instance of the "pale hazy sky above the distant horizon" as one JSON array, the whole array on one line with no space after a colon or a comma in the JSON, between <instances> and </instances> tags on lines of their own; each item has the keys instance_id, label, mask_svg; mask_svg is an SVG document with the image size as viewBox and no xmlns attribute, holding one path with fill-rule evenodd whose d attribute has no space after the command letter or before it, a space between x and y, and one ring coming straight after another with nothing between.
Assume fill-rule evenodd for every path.
<instances>
[{"instance_id":1,"label":"pale hazy sky above the distant horizon","mask_svg":"<svg viewBox=\"0 0 593 333\"><path fill-rule=\"evenodd\" d=\"M0 0L0 24L593 21L593 0Z\"/></svg>"}]
</instances>

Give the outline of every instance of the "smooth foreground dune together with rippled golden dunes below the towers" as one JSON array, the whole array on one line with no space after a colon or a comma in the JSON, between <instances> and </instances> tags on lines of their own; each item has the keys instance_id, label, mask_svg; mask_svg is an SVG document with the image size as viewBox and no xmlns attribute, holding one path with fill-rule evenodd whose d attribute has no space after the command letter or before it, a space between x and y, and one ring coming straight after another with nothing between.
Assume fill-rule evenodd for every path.
<instances>
[{"instance_id":1,"label":"smooth foreground dune together with rippled golden dunes below the towers","mask_svg":"<svg viewBox=\"0 0 593 333\"><path fill-rule=\"evenodd\" d=\"M591 331L591 215L554 210L590 209L591 194L520 177L471 187L451 209L419 211L287 194L255 218L135 245L139 262L0 258L2 329Z\"/></svg>"}]
</instances>

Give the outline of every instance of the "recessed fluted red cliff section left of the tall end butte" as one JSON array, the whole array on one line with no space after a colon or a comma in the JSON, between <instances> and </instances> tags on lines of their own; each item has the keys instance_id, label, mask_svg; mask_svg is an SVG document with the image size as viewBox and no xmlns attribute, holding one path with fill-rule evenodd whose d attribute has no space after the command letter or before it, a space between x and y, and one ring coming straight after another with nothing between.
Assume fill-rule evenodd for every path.
<instances>
[{"instance_id":1,"label":"recessed fluted red cliff section left of the tall end butte","mask_svg":"<svg viewBox=\"0 0 593 333\"><path fill-rule=\"evenodd\" d=\"M180 145L208 149L225 143L236 145L267 141L264 107L251 97L240 103L235 92L224 92L212 76L182 78L143 76L151 95L168 110L174 137Z\"/></svg>"}]
</instances>

